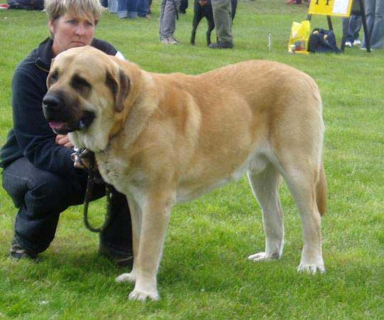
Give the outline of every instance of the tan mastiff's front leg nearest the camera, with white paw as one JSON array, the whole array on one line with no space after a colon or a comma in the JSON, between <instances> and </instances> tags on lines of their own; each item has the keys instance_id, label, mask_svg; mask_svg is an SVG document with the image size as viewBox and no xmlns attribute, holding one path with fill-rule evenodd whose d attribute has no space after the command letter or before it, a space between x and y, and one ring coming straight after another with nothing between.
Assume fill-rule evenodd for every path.
<instances>
[{"instance_id":1,"label":"tan mastiff's front leg nearest the camera, with white paw","mask_svg":"<svg viewBox=\"0 0 384 320\"><path fill-rule=\"evenodd\" d=\"M169 195L149 196L142 210L139 250L134 257L136 283L131 300L158 300L156 274L174 200Z\"/></svg>"}]
</instances>

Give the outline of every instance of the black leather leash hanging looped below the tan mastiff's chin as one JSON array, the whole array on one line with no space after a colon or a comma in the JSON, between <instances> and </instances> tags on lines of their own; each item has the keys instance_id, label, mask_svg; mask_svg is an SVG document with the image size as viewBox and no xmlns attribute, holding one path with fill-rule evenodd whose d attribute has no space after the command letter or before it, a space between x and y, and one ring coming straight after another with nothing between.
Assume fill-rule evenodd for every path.
<instances>
[{"instance_id":1,"label":"black leather leash hanging looped below the tan mastiff's chin","mask_svg":"<svg viewBox=\"0 0 384 320\"><path fill-rule=\"evenodd\" d=\"M88 180L87 180L87 190L85 191L84 197L84 210L83 210L83 219L85 228L90 230L92 233L102 233L103 230L107 228L107 226L111 222L111 195L112 195L112 186L108 183L105 183L105 196L107 197L107 214L105 221L100 228L93 228L90 225L88 220L88 206L90 203L90 199L92 196L93 186L96 181L102 181L102 178L97 170L95 154L87 149L75 148L75 152L71 155L73 162L80 164L80 166L87 168L88 170ZM85 161L87 164L85 164Z\"/></svg>"}]
</instances>

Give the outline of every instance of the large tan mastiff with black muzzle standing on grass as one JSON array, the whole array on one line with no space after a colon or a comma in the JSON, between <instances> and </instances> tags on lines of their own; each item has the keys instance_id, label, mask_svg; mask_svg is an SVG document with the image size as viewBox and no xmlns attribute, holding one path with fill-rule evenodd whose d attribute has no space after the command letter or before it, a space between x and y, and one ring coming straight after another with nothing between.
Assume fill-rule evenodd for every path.
<instances>
[{"instance_id":1,"label":"large tan mastiff with black muzzle standing on grass","mask_svg":"<svg viewBox=\"0 0 384 320\"><path fill-rule=\"evenodd\" d=\"M95 48L60 53L43 100L54 131L95 151L100 174L127 195L135 282L130 299L159 299L171 208L247 176L262 208L265 252L282 257L281 176L302 219L300 272L324 272L324 124L314 80L281 63L245 61L201 75L149 73Z\"/></svg>"}]
</instances>

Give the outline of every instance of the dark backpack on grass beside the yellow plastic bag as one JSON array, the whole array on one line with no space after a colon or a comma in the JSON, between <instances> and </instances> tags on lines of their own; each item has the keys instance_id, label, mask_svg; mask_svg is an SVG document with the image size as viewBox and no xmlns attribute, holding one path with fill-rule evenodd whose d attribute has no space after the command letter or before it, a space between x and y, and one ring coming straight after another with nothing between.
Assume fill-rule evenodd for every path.
<instances>
[{"instance_id":1,"label":"dark backpack on grass beside the yellow plastic bag","mask_svg":"<svg viewBox=\"0 0 384 320\"><path fill-rule=\"evenodd\" d=\"M315 28L309 35L308 51L340 53L334 31Z\"/></svg>"}]
</instances>

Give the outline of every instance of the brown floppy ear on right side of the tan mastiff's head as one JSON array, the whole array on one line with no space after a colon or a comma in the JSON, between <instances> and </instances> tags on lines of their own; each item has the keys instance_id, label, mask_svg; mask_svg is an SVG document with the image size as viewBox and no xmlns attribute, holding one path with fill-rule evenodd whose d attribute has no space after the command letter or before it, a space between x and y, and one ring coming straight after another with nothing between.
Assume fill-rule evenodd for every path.
<instances>
[{"instance_id":1,"label":"brown floppy ear on right side of the tan mastiff's head","mask_svg":"<svg viewBox=\"0 0 384 320\"><path fill-rule=\"evenodd\" d=\"M124 110L124 100L131 90L131 80L129 80L129 76L122 68L119 68L117 78L112 73L107 72L106 82L114 96L114 110L122 112L122 110Z\"/></svg>"}]
</instances>

